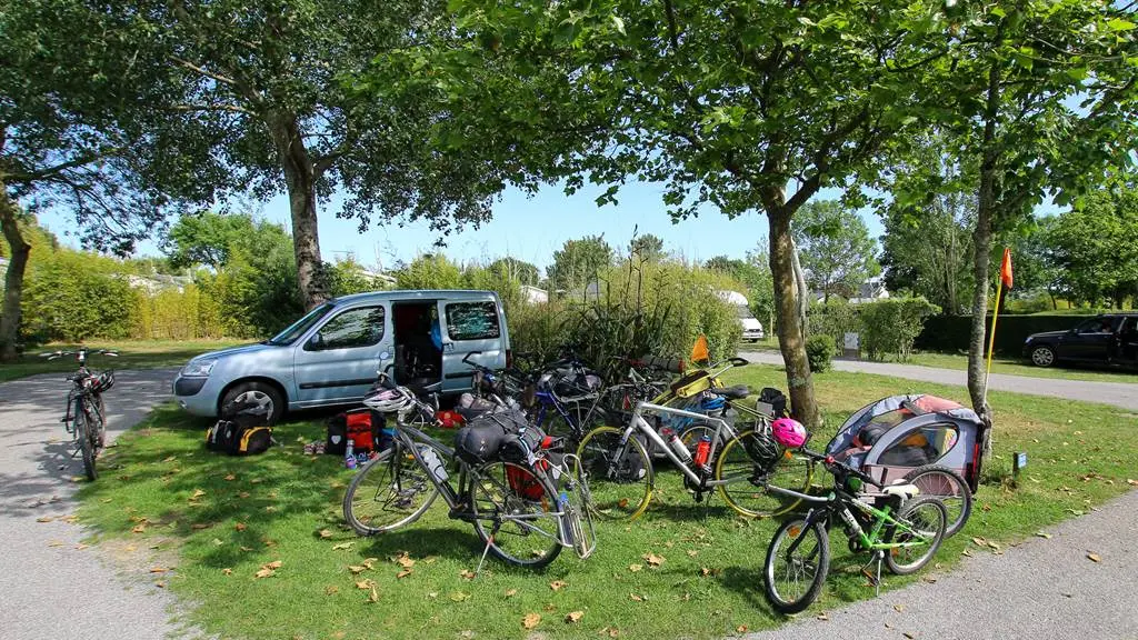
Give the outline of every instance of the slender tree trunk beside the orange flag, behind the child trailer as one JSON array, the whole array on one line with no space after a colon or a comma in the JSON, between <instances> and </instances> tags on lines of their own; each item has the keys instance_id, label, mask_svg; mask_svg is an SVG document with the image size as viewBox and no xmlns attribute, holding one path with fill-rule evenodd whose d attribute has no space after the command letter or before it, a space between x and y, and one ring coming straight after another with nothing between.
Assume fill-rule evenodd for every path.
<instances>
[{"instance_id":1,"label":"slender tree trunk beside the orange flag, behind the child trailer","mask_svg":"<svg viewBox=\"0 0 1138 640\"><path fill-rule=\"evenodd\" d=\"M988 268L991 263L992 222L996 216L996 170L999 153L996 147L996 120L999 115L999 63L988 73L988 97L984 110L983 157L980 162L980 187L976 194L976 227L972 232L972 269L976 289L972 296L972 335L968 340L968 395L973 410L991 420L988 407L988 379L984 375L986 325L988 318ZM990 429L988 429L990 432ZM986 438L984 450L990 449Z\"/></svg>"}]
</instances>

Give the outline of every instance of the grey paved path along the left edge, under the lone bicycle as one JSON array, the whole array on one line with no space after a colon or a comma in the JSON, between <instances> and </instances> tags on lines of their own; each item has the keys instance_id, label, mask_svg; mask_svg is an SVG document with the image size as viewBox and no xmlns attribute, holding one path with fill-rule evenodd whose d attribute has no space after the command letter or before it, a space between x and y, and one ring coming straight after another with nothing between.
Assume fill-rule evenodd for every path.
<instances>
[{"instance_id":1,"label":"grey paved path along the left edge, under the lone bicycle","mask_svg":"<svg viewBox=\"0 0 1138 640\"><path fill-rule=\"evenodd\" d=\"M173 370L121 371L106 395L113 440L170 396ZM74 512L83 461L72 459L59 418L61 374L0 385L0 638L163 638L174 599L149 582L118 575L81 549L81 526L38 518Z\"/></svg>"}]
</instances>

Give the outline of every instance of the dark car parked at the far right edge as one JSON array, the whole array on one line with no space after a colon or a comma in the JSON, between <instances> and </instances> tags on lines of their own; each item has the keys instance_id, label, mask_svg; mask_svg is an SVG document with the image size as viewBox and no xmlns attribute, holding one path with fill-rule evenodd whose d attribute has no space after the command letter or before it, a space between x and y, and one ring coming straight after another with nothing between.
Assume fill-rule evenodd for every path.
<instances>
[{"instance_id":1,"label":"dark car parked at the far right edge","mask_svg":"<svg viewBox=\"0 0 1138 640\"><path fill-rule=\"evenodd\" d=\"M1138 368L1138 312L1104 313L1073 329L1032 334L1023 356L1037 367L1070 362Z\"/></svg>"}]
</instances>

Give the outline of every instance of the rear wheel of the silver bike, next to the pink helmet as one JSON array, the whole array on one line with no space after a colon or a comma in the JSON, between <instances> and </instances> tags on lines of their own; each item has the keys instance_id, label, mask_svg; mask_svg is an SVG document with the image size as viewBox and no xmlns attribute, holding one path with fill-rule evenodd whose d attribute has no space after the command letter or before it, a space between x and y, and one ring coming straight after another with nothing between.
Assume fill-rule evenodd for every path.
<instances>
[{"instance_id":1,"label":"rear wheel of the silver bike, next to the pink helmet","mask_svg":"<svg viewBox=\"0 0 1138 640\"><path fill-rule=\"evenodd\" d=\"M801 500L767 490L774 485L806 493L814 476L809 458L791 454L767 434L748 430L727 442L715 466L719 493L732 509L756 518L786 514Z\"/></svg>"}]
</instances>

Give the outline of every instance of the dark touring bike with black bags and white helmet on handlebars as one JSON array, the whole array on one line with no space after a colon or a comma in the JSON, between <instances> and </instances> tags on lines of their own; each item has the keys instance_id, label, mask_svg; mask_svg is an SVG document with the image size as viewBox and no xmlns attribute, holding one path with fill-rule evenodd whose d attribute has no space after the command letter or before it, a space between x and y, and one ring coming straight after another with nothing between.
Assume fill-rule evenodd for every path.
<instances>
[{"instance_id":1,"label":"dark touring bike with black bags and white helmet on handlebars","mask_svg":"<svg viewBox=\"0 0 1138 640\"><path fill-rule=\"evenodd\" d=\"M485 543L476 573L487 553L510 565L541 568L562 548L574 549L582 559L596 549L588 487L579 478L576 456L558 460L552 446L531 448L519 437L516 458L468 461L407 424L407 417L417 415L438 425L430 404L391 384L386 374L380 374L379 387L364 404L395 416L395 438L360 469L344 495L344 518L357 534L412 524L442 495L448 516L471 523ZM456 482L447 468L457 468ZM559 482L564 483L561 490ZM541 544L545 548L535 549Z\"/></svg>"}]
</instances>

